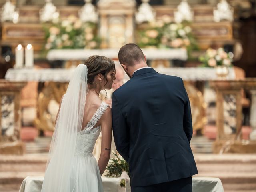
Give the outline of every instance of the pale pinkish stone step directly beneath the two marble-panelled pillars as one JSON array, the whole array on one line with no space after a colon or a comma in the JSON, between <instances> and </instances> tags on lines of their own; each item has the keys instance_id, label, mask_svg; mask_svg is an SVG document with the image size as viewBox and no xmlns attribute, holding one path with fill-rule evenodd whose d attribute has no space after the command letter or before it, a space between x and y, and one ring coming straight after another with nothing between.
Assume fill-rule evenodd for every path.
<instances>
[{"instance_id":1,"label":"pale pinkish stone step directly beneath the two marble-panelled pillars","mask_svg":"<svg viewBox=\"0 0 256 192\"><path fill-rule=\"evenodd\" d=\"M48 154L0 156L0 172L44 171ZM194 154L199 173L256 172L256 155Z\"/></svg>"}]
</instances>

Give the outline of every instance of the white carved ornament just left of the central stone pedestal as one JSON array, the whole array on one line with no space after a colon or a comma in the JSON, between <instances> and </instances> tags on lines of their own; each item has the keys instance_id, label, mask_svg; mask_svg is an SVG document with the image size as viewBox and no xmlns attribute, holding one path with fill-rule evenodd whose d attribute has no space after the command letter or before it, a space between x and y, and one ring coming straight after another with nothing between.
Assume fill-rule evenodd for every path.
<instances>
[{"instance_id":1,"label":"white carved ornament just left of the central stone pedestal","mask_svg":"<svg viewBox=\"0 0 256 192\"><path fill-rule=\"evenodd\" d=\"M79 10L78 15L82 22L98 22L98 13L92 5L92 0L84 0L85 5Z\"/></svg>"}]
</instances>

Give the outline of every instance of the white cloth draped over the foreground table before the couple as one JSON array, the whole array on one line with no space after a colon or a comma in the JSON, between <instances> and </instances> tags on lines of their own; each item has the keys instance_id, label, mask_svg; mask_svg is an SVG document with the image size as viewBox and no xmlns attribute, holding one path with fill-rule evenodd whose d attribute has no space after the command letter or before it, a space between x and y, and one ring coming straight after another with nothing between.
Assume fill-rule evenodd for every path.
<instances>
[{"instance_id":1,"label":"white cloth draped over the foreground table before the couple","mask_svg":"<svg viewBox=\"0 0 256 192\"><path fill-rule=\"evenodd\" d=\"M26 177L19 192L40 192L44 177ZM102 177L104 192L121 192L120 178ZM193 177L193 192L224 192L219 178ZM127 183L126 192L130 192L130 182Z\"/></svg>"}]
</instances>

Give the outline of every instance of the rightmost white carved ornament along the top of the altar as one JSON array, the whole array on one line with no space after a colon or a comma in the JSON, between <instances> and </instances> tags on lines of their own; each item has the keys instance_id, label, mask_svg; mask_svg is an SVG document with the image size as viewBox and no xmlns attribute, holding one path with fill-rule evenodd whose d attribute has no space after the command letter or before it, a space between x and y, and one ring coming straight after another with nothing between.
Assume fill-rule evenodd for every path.
<instances>
[{"instance_id":1,"label":"rightmost white carved ornament along the top of the altar","mask_svg":"<svg viewBox=\"0 0 256 192\"><path fill-rule=\"evenodd\" d=\"M213 10L213 19L215 22L221 20L233 21L234 8L232 8L226 0L221 0L217 4L217 9Z\"/></svg>"}]
</instances>

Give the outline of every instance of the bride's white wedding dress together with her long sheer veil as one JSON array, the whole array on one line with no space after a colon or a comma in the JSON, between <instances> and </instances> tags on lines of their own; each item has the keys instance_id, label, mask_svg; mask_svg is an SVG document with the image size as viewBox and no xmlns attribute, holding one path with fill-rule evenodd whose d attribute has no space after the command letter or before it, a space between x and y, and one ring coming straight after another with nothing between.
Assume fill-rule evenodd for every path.
<instances>
[{"instance_id":1,"label":"bride's white wedding dress together with her long sheer veil","mask_svg":"<svg viewBox=\"0 0 256 192\"><path fill-rule=\"evenodd\" d=\"M87 66L78 65L62 98L41 192L103 192L92 152L101 132L96 123L108 105L102 102L82 128L87 79Z\"/></svg>"}]
</instances>

